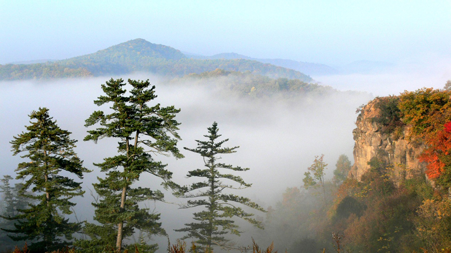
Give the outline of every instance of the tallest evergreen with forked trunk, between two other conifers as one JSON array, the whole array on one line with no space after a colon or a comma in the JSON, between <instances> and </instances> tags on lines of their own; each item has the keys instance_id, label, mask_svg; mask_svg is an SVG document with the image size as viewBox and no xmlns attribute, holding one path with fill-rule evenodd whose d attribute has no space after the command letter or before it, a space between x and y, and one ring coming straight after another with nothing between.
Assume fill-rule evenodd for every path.
<instances>
[{"instance_id":1,"label":"tallest evergreen with forked trunk, between two other conifers","mask_svg":"<svg viewBox=\"0 0 451 253\"><path fill-rule=\"evenodd\" d=\"M99 106L111 104L112 112L95 111L86 119L86 126L100 124L100 127L88 130L85 140L97 142L103 137L119 139L119 154L95 163L101 171L107 172L106 178L98 177L99 182L93 184L99 194L99 200L93 203L96 207L94 219L102 225L86 225L84 230L91 241L77 243L86 252L113 246L112 237L116 237L114 246L120 252L125 246L123 239L131 236L136 229L148 235L164 233L157 222L159 214L138 206L143 200L163 199L160 190L132 187L142 172L160 177L164 188L177 186L170 181L172 172L165 169L165 164L155 161L152 154L183 157L176 147L180 139L176 132L179 123L174 119L180 110L174 106L161 107L160 104L149 106L147 103L156 97L155 86L150 86L149 80L128 79L128 83L131 86L129 95L122 79L110 79L102 84L105 95L99 96L94 103ZM148 250L154 248L149 245Z\"/></svg>"}]
</instances>

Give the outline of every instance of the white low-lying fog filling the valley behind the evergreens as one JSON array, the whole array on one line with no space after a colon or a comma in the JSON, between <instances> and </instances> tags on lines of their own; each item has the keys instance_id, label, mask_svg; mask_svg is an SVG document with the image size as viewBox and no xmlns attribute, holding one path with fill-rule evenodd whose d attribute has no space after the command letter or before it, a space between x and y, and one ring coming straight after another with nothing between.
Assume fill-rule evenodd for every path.
<instances>
[{"instance_id":1,"label":"white low-lying fog filling the valley behind the evergreens","mask_svg":"<svg viewBox=\"0 0 451 253\"><path fill-rule=\"evenodd\" d=\"M325 161L329 164L328 178L331 177L340 154L344 153L352 160L352 129L355 128L357 116L355 110L372 98L370 92L387 95L410 89L407 80L402 82L406 84L399 89L390 84L387 86L387 82L382 81L385 77L379 76L380 86L375 89L371 89L372 85L363 89L357 85L336 87L344 90L365 90L368 93L343 92L321 97L299 96L289 100L276 97L240 99L190 83L164 84L161 78L149 74L118 77L125 80L149 78L150 82L156 85L156 102L163 106L175 105L181 108L181 112L176 116L181 122L178 132L182 137L178 146L185 158L176 160L173 157L156 157L157 160L168 163L167 168L173 171L174 181L189 184L195 180L187 179L185 175L188 170L201 168L203 160L198 154L186 151L183 147L195 147L194 140L203 139L203 135L207 133L206 128L216 121L222 137L230 138L225 144L240 146L237 153L223 155L221 162L251 168L239 175L247 182L253 183L252 187L236 190L235 193L248 196L265 208L279 201L281 193L287 187L301 187L304 172L312 164L315 155L325 155ZM24 125L29 124L28 114L32 110L48 107L50 115L58 121L58 125L72 131L71 137L79 140L75 151L84 160L84 165L93 170L85 175L83 186L87 192L84 198L75 199L78 203L75 207L78 218L91 221L94 210L90 204L93 198L89 189L92 189L91 184L97 181L96 176L103 175L92 163L115 155L118 140L104 138L97 144L83 141L87 130L84 120L94 110L99 109L93 100L102 94L100 85L109 78L0 82L1 175L15 176L14 170L22 161L19 155L12 155L9 141L13 136L25 131ZM347 77L342 78L344 79L341 81L336 78L336 83L345 82ZM414 77L410 78L413 79ZM321 81L332 84L332 80ZM368 83L368 80L365 83ZM422 86L431 85L424 83ZM383 93L383 90L388 92ZM105 106L101 109L108 108ZM151 188L160 187L160 181L150 175L141 176L139 184ZM166 196L168 201L174 203L186 200L176 199L170 192L166 192ZM192 209L180 210L176 204L161 202L150 202L147 205L161 213L162 225L172 242L183 235L172 229L181 228L184 223L189 222ZM264 213L256 213L264 217ZM166 238L157 238L155 241L159 243L162 252L167 245Z\"/></svg>"}]
</instances>

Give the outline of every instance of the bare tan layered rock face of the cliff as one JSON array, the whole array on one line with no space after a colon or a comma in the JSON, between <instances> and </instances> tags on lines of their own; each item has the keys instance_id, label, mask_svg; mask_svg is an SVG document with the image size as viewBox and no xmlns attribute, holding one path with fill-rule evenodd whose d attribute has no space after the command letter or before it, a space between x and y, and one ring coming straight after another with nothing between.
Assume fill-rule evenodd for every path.
<instances>
[{"instance_id":1,"label":"bare tan layered rock face of the cliff","mask_svg":"<svg viewBox=\"0 0 451 253\"><path fill-rule=\"evenodd\" d=\"M353 130L354 165L350 176L360 181L362 175L370 168L368 161L371 158L386 162L386 173L396 183L408 179L417 173L424 173L426 164L418 160L418 155L424 146L408 138L408 126L393 133L382 133L382 125L374 122L372 118L380 115L375 106L376 98L361 109L357 117L357 128Z\"/></svg>"}]
</instances>

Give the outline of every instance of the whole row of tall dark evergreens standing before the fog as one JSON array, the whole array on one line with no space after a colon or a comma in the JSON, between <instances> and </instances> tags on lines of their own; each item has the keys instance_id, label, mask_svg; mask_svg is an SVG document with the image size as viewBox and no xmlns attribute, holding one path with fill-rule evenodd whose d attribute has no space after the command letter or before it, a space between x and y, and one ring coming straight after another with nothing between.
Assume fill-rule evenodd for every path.
<instances>
[{"instance_id":1,"label":"whole row of tall dark evergreens standing before the fog","mask_svg":"<svg viewBox=\"0 0 451 253\"><path fill-rule=\"evenodd\" d=\"M127 89L126 89L127 88ZM227 138L220 138L217 123L209 127L205 140L197 140L197 147L186 148L203 158L203 169L189 171L188 177L198 181L180 185L172 181L172 172L158 161L158 155L183 158L179 152L177 133L180 111L174 106L151 104L156 97L155 86L148 80L110 79L102 84L104 94L94 103L108 105L109 110L94 111L86 119L90 127L85 141L100 142L103 138L118 140L118 154L104 158L94 165L104 173L98 176L94 189L98 197L94 223L73 222L68 215L76 205L71 199L82 196L82 179L90 171L74 151L77 140L71 139L68 130L61 129L50 116L48 108L39 108L30 116L26 131L11 141L14 155L24 161L18 164L16 179L23 184L11 186L11 176L2 180L4 208L1 215L5 248L16 241L28 242L30 252L50 252L72 246L80 252L154 252L158 246L149 244L155 234L165 235L159 213L140 205L142 201L163 201L162 189L170 189L178 197L188 198L182 208L197 207L194 222L179 231L192 238L198 250L211 252L213 245L229 247L229 234L239 235L235 218L241 218L263 228L255 219L252 209L265 212L251 199L233 193L234 189L250 187L234 171L249 168L219 162L224 154L234 153L238 146L224 146ZM156 176L161 187L136 186L144 175ZM229 182L229 183L227 183ZM231 190L232 189L232 190ZM199 207L202 207L201 211ZM82 237L74 237L82 233ZM138 242L130 238L139 234Z\"/></svg>"}]
</instances>

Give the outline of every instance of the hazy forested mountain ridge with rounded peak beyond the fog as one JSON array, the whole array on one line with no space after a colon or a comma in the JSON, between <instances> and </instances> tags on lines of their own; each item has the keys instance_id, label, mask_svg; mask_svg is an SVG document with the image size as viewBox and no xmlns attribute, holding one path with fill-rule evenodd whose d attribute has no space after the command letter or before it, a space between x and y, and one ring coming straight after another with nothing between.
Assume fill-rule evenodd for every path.
<instances>
[{"instance_id":1,"label":"hazy forested mountain ridge with rounded peak beyond the fog","mask_svg":"<svg viewBox=\"0 0 451 253\"><path fill-rule=\"evenodd\" d=\"M145 71L162 76L183 76L221 68L250 71L272 78L312 78L299 71L249 59L193 59L172 47L133 39L95 53L35 64L0 65L0 80L45 79L126 74Z\"/></svg>"}]
</instances>

